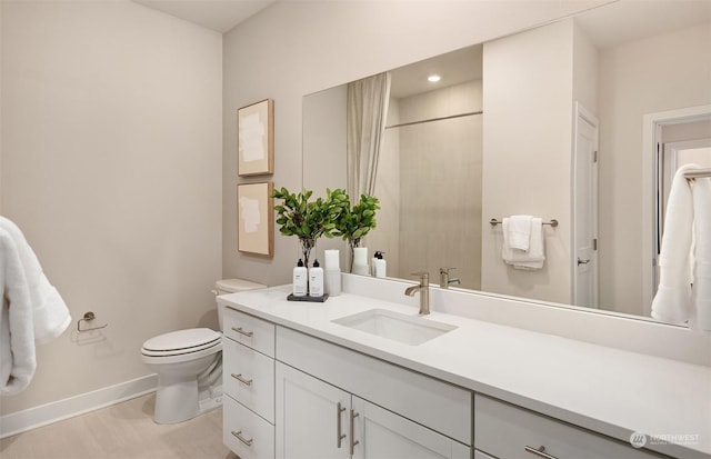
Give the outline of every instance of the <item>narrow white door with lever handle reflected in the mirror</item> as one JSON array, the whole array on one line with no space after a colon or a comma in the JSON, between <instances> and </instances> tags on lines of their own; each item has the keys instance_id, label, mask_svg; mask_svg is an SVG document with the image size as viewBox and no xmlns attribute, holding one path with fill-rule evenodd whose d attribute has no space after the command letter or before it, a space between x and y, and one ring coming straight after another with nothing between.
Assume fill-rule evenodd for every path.
<instances>
[{"instance_id":1,"label":"narrow white door with lever handle reflected in the mirror","mask_svg":"<svg viewBox=\"0 0 711 459\"><path fill-rule=\"evenodd\" d=\"M598 308L598 119L575 102L573 305Z\"/></svg>"}]
</instances>

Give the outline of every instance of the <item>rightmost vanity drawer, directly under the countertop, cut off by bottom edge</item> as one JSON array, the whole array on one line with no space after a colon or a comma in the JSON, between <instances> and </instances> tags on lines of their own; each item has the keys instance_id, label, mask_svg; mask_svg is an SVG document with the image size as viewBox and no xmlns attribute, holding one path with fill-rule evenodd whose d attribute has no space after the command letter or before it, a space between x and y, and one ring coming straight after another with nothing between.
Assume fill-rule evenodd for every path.
<instances>
[{"instance_id":1,"label":"rightmost vanity drawer, directly under the countertop, cut off by bottom edge","mask_svg":"<svg viewBox=\"0 0 711 459\"><path fill-rule=\"evenodd\" d=\"M474 395L474 447L501 459L652 459L657 455ZM544 447L543 456L537 451Z\"/></svg>"}]
</instances>

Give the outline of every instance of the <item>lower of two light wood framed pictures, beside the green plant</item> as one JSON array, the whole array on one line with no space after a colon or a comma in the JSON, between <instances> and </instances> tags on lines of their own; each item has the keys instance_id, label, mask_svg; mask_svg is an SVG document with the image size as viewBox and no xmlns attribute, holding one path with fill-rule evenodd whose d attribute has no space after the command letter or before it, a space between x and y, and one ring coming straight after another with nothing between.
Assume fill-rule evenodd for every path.
<instances>
[{"instance_id":1,"label":"lower of two light wood framed pictures, beside the green plant","mask_svg":"<svg viewBox=\"0 0 711 459\"><path fill-rule=\"evenodd\" d=\"M274 255L273 182L237 186L237 249L263 257Z\"/></svg>"}]
</instances>

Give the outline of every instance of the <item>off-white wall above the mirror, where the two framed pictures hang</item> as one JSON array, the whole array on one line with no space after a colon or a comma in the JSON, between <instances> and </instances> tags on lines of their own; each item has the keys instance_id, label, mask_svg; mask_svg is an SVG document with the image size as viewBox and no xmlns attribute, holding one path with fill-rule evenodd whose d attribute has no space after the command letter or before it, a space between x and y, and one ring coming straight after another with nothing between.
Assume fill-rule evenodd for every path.
<instances>
[{"instance_id":1,"label":"off-white wall above the mirror, where the two framed pictures hang","mask_svg":"<svg viewBox=\"0 0 711 459\"><path fill-rule=\"evenodd\" d=\"M289 282L297 241L237 251L237 109L274 99L277 187L301 188L301 98L608 1L278 2L224 36L223 275ZM568 171L565 172L568 173ZM319 249L320 251L320 249Z\"/></svg>"}]
</instances>

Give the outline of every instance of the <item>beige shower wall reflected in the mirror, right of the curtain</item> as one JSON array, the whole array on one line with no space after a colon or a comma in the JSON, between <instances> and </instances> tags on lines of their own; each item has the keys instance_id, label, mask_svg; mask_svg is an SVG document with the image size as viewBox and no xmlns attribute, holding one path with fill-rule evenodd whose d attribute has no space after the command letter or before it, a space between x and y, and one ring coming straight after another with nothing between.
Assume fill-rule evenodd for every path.
<instances>
[{"instance_id":1,"label":"beige shower wall reflected in the mirror, right of the curtain","mask_svg":"<svg viewBox=\"0 0 711 459\"><path fill-rule=\"evenodd\" d=\"M481 80L393 99L388 126L480 111L481 100ZM399 183L398 204L383 207L379 218L378 238L399 248L385 256L389 276L428 271L437 282L440 267L454 267L461 287L481 287L481 127L482 116L470 114L387 130L379 170L391 171L379 171L377 196L393 198L385 188ZM383 167L394 160L398 168ZM382 228L389 220L399 223ZM377 250L374 238L370 245Z\"/></svg>"}]
</instances>

